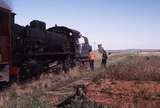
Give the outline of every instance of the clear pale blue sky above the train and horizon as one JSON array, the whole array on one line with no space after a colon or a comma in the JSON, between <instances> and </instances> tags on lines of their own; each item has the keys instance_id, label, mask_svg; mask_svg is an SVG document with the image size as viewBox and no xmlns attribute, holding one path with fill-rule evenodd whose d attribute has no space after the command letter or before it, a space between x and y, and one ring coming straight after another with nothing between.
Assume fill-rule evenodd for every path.
<instances>
[{"instance_id":1,"label":"clear pale blue sky above the train and horizon","mask_svg":"<svg viewBox=\"0 0 160 108\"><path fill-rule=\"evenodd\" d=\"M160 49L160 0L10 0L16 23L67 26L105 49ZM95 44L94 44L95 43ZM95 46L94 46L95 45Z\"/></svg>"}]
</instances>

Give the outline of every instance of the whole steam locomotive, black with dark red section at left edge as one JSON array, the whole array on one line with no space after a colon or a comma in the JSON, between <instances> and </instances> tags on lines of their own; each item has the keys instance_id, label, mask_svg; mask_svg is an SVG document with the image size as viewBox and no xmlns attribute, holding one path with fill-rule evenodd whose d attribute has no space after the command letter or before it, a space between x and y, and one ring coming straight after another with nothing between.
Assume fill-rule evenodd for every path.
<instances>
[{"instance_id":1,"label":"whole steam locomotive, black with dark red section at left edge","mask_svg":"<svg viewBox=\"0 0 160 108\"><path fill-rule=\"evenodd\" d=\"M91 46L79 31L57 25L46 29L38 20L24 27L14 23L14 16L0 7L0 82L38 77L54 66L67 71L87 58Z\"/></svg>"}]
</instances>

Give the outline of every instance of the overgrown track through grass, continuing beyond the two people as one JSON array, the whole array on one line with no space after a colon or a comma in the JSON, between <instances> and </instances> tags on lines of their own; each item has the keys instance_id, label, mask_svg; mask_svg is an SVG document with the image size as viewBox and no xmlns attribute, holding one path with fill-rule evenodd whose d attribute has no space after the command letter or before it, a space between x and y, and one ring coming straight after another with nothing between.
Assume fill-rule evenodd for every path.
<instances>
[{"instance_id":1,"label":"overgrown track through grass, continuing beyond the two people","mask_svg":"<svg viewBox=\"0 0 160 108\"><path fill-rule=\"evenodd\" d=\"M124 57L123 58L119 57L116 60L110 61L108 65L121 61L122 59L124 59ZM58 104L66 100L69 96L73 96L76 93L77 86L89 85L92 82L93 78L104 72L105 70L97 66L94 72L89 71L85 74L82 74L79 77L71 78L65 82L58 82L57 84L55 84L55 87L53 87L51 91L48 91L48 93L50 94L53 93L52 94L53 97L54 96L55 98L56 96L59 97L57 98L57 100L55 99L56 101L53 102L54 107L56 107Z\"/></svg>"}]
</instances>

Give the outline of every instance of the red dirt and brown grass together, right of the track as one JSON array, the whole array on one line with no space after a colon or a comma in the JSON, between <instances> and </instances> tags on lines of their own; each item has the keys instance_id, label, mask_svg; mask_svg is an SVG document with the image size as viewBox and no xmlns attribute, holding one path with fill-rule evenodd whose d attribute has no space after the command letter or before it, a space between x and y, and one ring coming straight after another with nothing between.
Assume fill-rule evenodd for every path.
<instances>
[{"instance_id":1,"label":"red dirt and brown grass together, right of the track","mask_svg":"<svg viewBox=\"0 0 160 108\"><path fill-rule=\"evenodd\" d=\"M108 107L159 108L159 57L146 52L123 56L87 86L86 96Z\"/></svg>"}]
</instances>

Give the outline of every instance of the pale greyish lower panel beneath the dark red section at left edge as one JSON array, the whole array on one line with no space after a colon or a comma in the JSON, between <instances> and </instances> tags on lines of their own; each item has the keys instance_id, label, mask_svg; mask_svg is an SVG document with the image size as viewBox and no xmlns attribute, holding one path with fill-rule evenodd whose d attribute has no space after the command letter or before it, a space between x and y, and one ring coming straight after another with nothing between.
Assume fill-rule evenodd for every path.
<instances>
[{"instance_id":1,"label":"pale greyish lower panel beneath the dark red section at left edge","mask_svg":"<svg viewBox=\"0 0 160 108\"><path fill-rule=\"evenodd\" d=\"M0 64L0 82L9 82L8 64Z\"/></svg>"}]
</instances>

